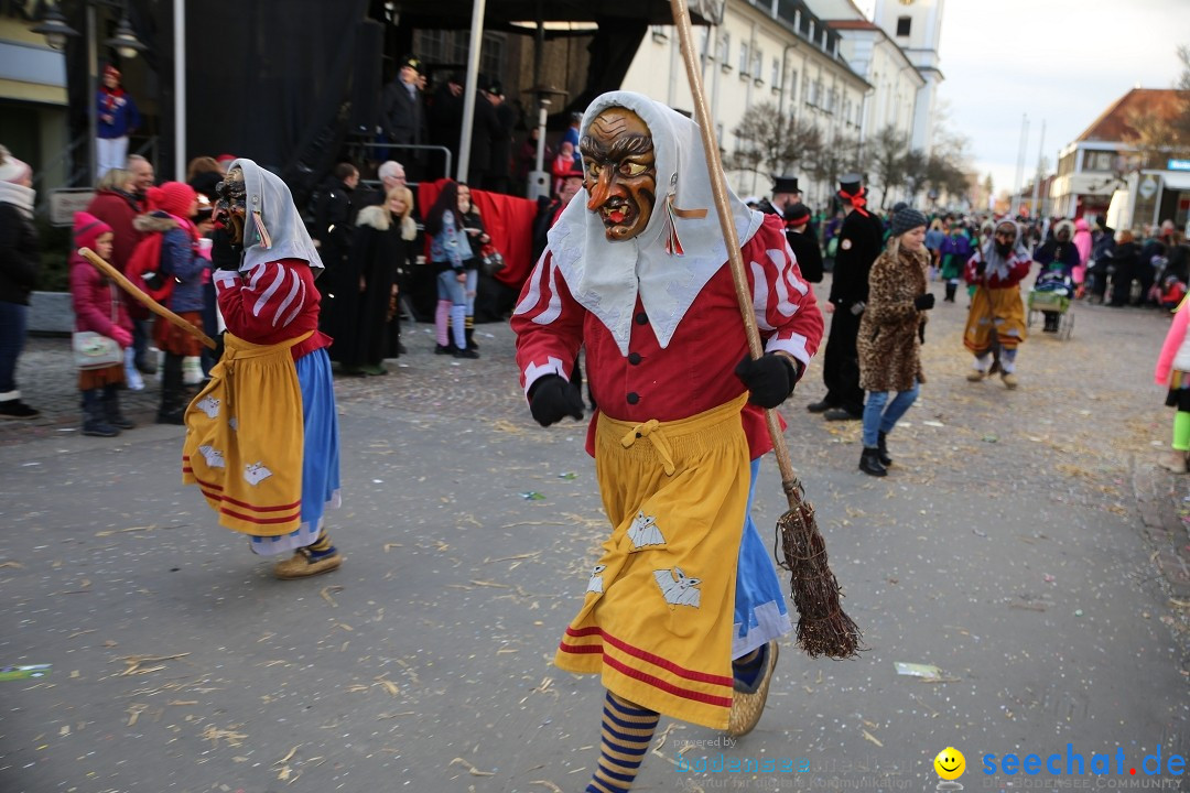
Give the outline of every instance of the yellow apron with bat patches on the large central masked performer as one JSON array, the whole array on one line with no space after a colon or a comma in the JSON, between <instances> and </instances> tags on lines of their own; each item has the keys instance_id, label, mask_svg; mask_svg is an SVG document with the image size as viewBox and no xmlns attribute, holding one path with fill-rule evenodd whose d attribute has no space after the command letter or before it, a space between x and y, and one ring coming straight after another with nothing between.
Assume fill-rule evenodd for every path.
<instances>
[{"instance_id":1,"label":"yellow apron with bat patches on the large central masked performer","mask_svg":"<svg viewBox=\"0 0 1190 793\"><path fill-rule=\"evenodd\" d=\"M713 729L732 706L746 401L664 423L599 416L595 470L614 528L555 656L628 701Z\"/></svg>"}]
</instances>

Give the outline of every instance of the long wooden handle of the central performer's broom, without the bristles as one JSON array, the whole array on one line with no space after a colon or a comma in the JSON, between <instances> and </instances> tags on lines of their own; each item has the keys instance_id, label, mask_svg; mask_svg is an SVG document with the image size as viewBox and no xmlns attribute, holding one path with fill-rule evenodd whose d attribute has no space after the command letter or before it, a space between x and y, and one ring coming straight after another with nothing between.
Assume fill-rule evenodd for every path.
<instances>
[{"instance_id":1,"label":"long wooden handle of the central performer's broom, without the bristles","mask_svg":"<svg viewBox=\"0 0 1190 793\"><path fill-rule=\"evenodd\" d=\"M697 55L694 49L694 32L690 30L690 12L685 4L687 0L670 0L670 8L674 11L678 42L682 44L682 59L685 62L685 75L690 81L690 94L694 97L695 120L702 133L702 147L706 150L707 169L710 171L710 191L715 197L719 226L724 232L724 241L727 244L727 262L732 268L732 282L735 284L735 298L740 304L740 316L744 317L747 347L752 358L756 359L764 354L764 347L760 346L760 331L756 326L756 315L752 313L751 290L747 285L747 275L744 271L744 259L740 257L740 240L735 233L735 222L732 220L732 209L727 200L724 163L719 156L715 125L710 119L710 111L707 109L707 96L702 88L702 71L699 69ZM772 438L772 451L777 457L777 466L781 468L782 484L790 505L794 505L791 489L800 489L801 483L794 471L794 462L789 457L789 447L785 446L785 436L781 432L777 411L770 409L765 410L764 414L769 424L769 435Z\"/></svg>"}]
</instances>

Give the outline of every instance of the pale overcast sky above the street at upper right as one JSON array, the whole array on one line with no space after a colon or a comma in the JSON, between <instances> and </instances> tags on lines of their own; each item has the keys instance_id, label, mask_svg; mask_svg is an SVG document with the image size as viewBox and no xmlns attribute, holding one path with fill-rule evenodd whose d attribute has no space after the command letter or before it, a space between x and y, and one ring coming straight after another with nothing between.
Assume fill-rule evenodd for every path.
<instances>
[{"instance_id":1,"label":"pale overcast sky above the street at upper right","mask_svg":"<svg viewBox=\"0 0 1190 793\"><path fill-rule=\"evenodd\" d=\"M870 12L871 1L860 1ZM945 0L939 89L947 126L971 140L981 174L1012 190L1029 119L1026 177L1045 121L1050 168L1132 88L1172 88L1190 45L1190 0Z\"/></svg>"}]
</instances>

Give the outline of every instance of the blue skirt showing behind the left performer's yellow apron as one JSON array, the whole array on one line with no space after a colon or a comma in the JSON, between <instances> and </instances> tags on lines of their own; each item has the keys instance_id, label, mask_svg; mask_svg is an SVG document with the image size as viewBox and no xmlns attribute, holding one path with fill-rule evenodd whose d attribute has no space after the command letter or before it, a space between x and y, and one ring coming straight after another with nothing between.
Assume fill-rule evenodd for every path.
<instances>
[{"instance_id":1,"label":"blue skirt showing behind the left performer's yellow apron","mask_svg":"<svg viewBox=\"0 0 1190 793\"><path fill-rule=\"evenodd\" d=\"M324 514L339 506L339 415L334 409L334 379L325 348L294 361L301 386L305 440L301 472L301 525L278 537L251 537L263 556L305 548L318 540Z\"/></svg>"}]
</instances>

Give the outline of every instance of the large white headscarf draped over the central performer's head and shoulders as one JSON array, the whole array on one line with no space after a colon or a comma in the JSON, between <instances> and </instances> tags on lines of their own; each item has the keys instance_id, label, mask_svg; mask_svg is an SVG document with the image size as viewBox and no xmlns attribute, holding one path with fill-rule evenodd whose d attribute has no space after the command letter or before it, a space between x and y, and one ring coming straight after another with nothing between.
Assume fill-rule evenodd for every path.
<instances>
[{"instance_id":1,"label":"large white headscarf draped over the central performer's head and shoulders","mask_svg":"<svg viewBox=\"0 0 1190 793\"><path fill-rule=\"evenodd\" d=\"M649 314L658 344L665 348L695 297L725 266L727 245L719 227L697 125L641 94L610 92L587 108L583 136L595 117L608 107L632 111L652 133L657 201L649 225L632 239L608 241L599 214L588 212L589 196L582 189L563 209L549 232L549 240L553 262L571 295L607 326L620 353L627 355L637 296ZM756 234L764 215L749 209L731 188L727 194L743 246ZM672 215L671 196L675 209L701 209L704 214ZM683 254L666 252L671 232L677 233Z\"/></svg>"}]
</instances>

